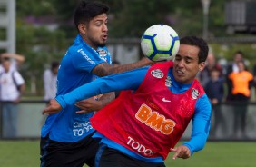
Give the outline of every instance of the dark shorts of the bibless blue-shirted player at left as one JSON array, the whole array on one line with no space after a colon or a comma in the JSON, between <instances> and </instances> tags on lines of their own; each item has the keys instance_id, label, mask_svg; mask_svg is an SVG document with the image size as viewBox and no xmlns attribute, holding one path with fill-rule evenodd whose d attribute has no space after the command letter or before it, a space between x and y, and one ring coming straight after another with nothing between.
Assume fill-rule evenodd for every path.
<instances>
[{"instance_id":1,"label":"dark shorts of the bibless blue-shirted player at left","mask_svg":"<svg viewBox=\"0 0 256 167\"><path fill-rule=\"evenodd\" d=\"M94 166L95 154L99 148L92 134L79 142L55 142L48 137L41 138L41 167L83 167Z\"/></svg>"}]
</instances>

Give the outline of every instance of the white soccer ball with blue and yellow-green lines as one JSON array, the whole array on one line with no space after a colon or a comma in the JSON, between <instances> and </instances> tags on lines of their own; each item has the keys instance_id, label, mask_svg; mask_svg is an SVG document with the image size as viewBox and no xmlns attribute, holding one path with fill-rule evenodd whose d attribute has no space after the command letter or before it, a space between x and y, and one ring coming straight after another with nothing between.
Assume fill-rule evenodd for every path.
<instances>
[{"instance_id":1,"label":"white soccer ball with blue and yellow-green lines","mask_svg":"<svg viewBox=\"0 0 256 167\"><path fill-rule=\"evenodd\" d=\"M143 54L154 62L174 60L180 48L178 34L168 25L152 25L141 39Z\"/></svg>"}]
</instances>

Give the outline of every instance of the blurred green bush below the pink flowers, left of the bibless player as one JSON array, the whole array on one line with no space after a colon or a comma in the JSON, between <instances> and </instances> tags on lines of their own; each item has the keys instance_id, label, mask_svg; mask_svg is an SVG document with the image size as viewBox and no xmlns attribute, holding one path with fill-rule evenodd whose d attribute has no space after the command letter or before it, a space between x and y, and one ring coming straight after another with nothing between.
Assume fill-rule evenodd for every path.
<instances>
[{"instance_id":1,"label":"blurred green bush below the pink flowers, left of the bibless player","mask_svg":"<svg viewBox=\"0 0 256 167\"><path fill-rule=\"evenodd\" d=\"M60 61L69 45L63 31L50 31L44 26L34 27L24 23L17 24L17 51L25 55L25 64L21 73L27 84L35 83L37 92L31 92L27 86L26 93L43 94L43 73L45 64Z\"/></svg>"}]
</instances>

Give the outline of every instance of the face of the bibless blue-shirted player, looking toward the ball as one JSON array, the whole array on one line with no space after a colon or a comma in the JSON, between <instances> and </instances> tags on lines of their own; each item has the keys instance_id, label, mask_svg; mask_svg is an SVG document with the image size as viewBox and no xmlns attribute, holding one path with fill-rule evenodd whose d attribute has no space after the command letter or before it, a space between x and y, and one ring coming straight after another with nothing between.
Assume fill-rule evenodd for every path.
<instances>
[{"instance_id":1,"label":"face of the bibless blue-shirted player, looking toward the ball","mask_svg":"<svg viewBox=\"0 0 256 167\"><path fill-rule=\"evenodd\" d=\"M104 46L107 40L107 15L97 15L90 21L89 25L85 27L84 40L94 49L99 46Z\"/></svg>"}]
</instances>

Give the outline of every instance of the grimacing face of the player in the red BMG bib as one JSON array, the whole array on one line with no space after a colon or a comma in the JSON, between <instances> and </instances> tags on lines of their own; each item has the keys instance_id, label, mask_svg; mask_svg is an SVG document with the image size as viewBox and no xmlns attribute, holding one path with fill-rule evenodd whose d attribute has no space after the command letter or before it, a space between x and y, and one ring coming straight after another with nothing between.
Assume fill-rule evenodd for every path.
<instances>
[{"instance_id":1,"label":"grimacing face of the player in the red BMG bib","mask_svg":"<svg viewBox=\"0 0 256 167\"><path fill-rule=\"evenodd\" d=\"M202 71L205 63L198 63L199 48L188 44L181 44L176 54L173 75L180 83L192 83L199 71Z\"/></svg>"}]
</instances>

